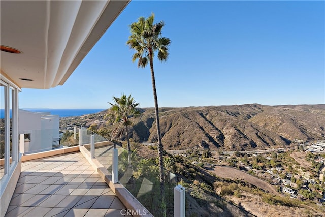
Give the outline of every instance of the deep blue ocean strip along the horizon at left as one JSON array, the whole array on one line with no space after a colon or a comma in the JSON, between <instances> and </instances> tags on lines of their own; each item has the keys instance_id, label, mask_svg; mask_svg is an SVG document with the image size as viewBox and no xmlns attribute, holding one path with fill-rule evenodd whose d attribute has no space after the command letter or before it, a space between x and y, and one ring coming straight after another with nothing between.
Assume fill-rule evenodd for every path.
<instances>
[{"instance_id":1,"label":"deep blue ocean strip along the horizon at left","mask_svg":"<svg viewBox=\"0 0 325 217\"><path fill-rule=\"evenodd\" d=\"M59 115L60 117L73 117L73 116L81 116L84 114L93 114L105 109L23 109L27 111L33 112L51 112L51 114ZM5 110L0 109L0 117L4 118ZM10 112L11 113L11 112Z\"/></svg>"}]
</instances>

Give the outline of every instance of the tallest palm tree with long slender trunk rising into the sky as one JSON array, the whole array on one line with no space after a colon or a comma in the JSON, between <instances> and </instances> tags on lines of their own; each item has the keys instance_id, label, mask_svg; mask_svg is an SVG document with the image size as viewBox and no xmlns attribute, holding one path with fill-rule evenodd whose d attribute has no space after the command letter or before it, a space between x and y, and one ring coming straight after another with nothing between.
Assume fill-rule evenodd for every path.
<instances>
[{"instance_id":1,"label":"tallest palm tree with long slender trunk rising into the sky","mask_svg":"<svg viewBox=\"0 0 325 217\"><path fill-rule=\"evenodd\" d=\"M153 71L153 57L155 52L158 52L158 60L166 61L169 53L168 46L171 40L161 36L161 30L164 27L164 22L154 22L154 14L148 18L140 17L138 22L132 23L129 27L131 35L126 42L130 48L135 50L132 61L138 59L138 68L145 68L149 62L152 79L152 89L154 98L154 108L156 116L156 127L158 137L158 156L159 156L159 178L161 183L161 191L164 191L164 156L163 156L163 143L161 142L160 125L159 125L159 113L158 113L158 100L156 92L156 84ZM163 193L163 192L162 192Z\"/></svg>"}]
</instances>

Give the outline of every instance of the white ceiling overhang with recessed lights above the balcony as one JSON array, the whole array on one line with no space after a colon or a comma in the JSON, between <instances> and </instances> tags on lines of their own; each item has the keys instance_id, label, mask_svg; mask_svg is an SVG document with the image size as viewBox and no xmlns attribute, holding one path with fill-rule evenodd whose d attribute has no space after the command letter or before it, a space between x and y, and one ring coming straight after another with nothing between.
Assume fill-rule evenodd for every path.
<instances>
[{"instance_id":1,"label":"white ceiling overhang with recessed lights above the balcony","mask_svg":"<svg viewBox=\"0 0 325 217\"><path fill-rule=\"evenodd\" d=\"M128 3L0 1L0 43L21 51L0 52L1 73L21 88L62 85Z\"/></svg>"}]
</instances>

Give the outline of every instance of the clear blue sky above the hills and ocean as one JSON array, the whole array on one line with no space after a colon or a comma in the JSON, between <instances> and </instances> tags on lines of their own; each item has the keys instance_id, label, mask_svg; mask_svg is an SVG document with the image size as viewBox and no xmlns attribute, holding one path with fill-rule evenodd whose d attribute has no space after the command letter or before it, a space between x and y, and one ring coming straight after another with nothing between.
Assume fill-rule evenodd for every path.
<instances>
[{"instance_id":1,"label":"clear blue sky above the hills and ocean","mask_svg":"<svg viewBox=\"0 0 325 217\"><path fill-rule=\"evenodd\" d=\"M149 66L132 63L128 25L155 13L171 39L154 61L159 107L324 104L324 1L132 1L63 86L26 89L20 108L153 107Z\"/></svg>"}]
</instances>

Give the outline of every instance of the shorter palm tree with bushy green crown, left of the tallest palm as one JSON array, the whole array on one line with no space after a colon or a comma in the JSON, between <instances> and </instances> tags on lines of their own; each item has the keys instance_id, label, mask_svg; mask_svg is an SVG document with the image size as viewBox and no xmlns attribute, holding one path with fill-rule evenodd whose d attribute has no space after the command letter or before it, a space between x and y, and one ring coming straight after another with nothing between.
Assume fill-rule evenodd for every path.
<instances>
[{"instance_id":1,"label":"shorter palm tree with bushy green crown, left of the tallest palm","mask_svg":"<svg viewBox=\"0 0 325 217\"><path fill-rule=\"evenodd\" d=\"M112 107L107 111L104 118L108 119L111 123L120 123L119 127L113 131L112 138L116 138L116 135L120 135L119 128L123 126L123 130L126 134L127 150L128 152L131 152L128 126L133 125L133 122L129 120L129 117L138 116L140 114L140 111L136 108L139 103L135 102L133 97L131 97L131 94L128 97L125 94L122 94L120 98L113 96L113 100L114 104L109 103Z\"/></svg>"}]
</instances>

